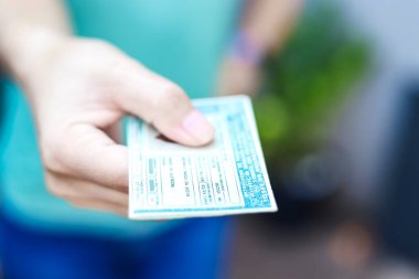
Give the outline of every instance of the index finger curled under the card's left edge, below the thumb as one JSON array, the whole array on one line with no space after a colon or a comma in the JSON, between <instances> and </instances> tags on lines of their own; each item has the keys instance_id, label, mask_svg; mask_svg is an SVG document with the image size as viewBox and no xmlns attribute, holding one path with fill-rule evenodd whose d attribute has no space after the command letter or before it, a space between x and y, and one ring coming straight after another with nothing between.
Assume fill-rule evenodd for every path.
<instances>
[{"instance_id":1,"label":"index finger curled under the card's left edge, below the thumb","mask_svg":"<svg viewBox=\"0 0 419 279\"><path fill-rule=\"evenodd\" d=\"M44 149L45 167L92 183L128 189L128 151L87 124L65 127Z\"/></svg>"}]
</instances>

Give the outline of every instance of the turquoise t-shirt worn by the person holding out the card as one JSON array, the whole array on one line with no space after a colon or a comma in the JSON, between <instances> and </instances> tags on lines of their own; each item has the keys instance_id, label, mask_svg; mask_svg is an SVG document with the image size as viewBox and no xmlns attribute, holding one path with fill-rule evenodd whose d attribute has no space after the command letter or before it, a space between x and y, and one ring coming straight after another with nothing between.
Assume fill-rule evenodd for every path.
<instances>
[{"instance_id":1,"label":"turquoise t-shirt worn by the person holding out the card","mask_svg":"<svg viewBox=\"0 0 419 279\"><path fill-rule=\"evenodd\" d=\"M239 0L67 0L75 32L118 46L174 81L191 97L210 96ZM179 222L135 222L80 210L44 186L35 128L28 104L3 82L0 178L4 213L37 229L147 237Z\"/></svg>"}]
</instances>

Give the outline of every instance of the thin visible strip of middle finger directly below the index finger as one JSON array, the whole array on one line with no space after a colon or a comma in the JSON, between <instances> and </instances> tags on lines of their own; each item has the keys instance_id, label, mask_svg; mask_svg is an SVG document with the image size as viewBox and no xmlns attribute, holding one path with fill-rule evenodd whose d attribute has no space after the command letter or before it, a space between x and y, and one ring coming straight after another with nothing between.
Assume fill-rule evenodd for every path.
<instances>
[{"instance_id":1,"label":"thin visible strip of middle finger directly below the index finger","mask_svg":"<svg viewBox=\"0 0 419 279\"><path fill-rule=\"evenodd\" d=\"M46 175L49 190L64 198L89 198L127 206L128 192L108 189L62 174Z\"/></svg>"}]
</instances>

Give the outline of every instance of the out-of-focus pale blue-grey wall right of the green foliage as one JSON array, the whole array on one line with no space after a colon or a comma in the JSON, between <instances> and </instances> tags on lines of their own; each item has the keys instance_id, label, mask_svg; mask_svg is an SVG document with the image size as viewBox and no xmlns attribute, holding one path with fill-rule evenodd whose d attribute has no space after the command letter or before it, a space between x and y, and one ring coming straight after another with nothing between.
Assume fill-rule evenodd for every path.
<instances>
[{"instance_id":1,"label":"out-of-focus pale blue-grey wall right of the green foliage","mask_svg":"<svg viewBox=\"0 0 419 279\"><path fill-rule=\"evenodd\" d=\"M351 201L355 197L358 205L375 207L397 136L402 87L419 77L419 1L336 2L373 46L373 72L347 105L335 138L352 162Z\"/></svg>"}]
</instances>

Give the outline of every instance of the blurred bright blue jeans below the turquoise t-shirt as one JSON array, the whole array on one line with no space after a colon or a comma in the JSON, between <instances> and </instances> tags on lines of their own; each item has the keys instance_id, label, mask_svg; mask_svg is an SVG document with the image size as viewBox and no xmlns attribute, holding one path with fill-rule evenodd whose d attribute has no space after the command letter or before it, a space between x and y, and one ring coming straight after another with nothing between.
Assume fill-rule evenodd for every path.
<instances>
[{"instance_id":1,"label":"blurred bright blue jeans below the turquoise t-shirt","mask_svg":"<svg viewBox=\"0 0 419 279\"><path fill-rule=\"evenodd\" d=\"M116 240L29 230L1 219L4 279L223 278L227 218L198 218L152 239Z\"/></svg>"}]
</instances>

